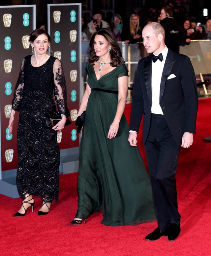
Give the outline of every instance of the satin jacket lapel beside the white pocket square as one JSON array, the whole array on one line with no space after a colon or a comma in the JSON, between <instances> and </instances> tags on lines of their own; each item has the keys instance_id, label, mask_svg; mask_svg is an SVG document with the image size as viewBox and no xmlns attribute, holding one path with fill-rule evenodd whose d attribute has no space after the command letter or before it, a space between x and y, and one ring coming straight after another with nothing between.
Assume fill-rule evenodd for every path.
<instances>
[{"instance_id":1,"label":"satin jacket lapel beside the white pocket square","mask_svg":"<svg viewBox=\"0 0 211 256\"><path fill-rule=\"evenodd\" d=\"M168 49L168 53L167 53L167 56L166 56L166 62L165 62L165 65L164 65L164 70L163 70L163 74L162 74L162 78L161 78L160 101L161 101L161 99L163 97L163 94L164 94L166 80L167 80L168 76L171 73L171 70L173 68L173 65L174 65L175 61L176 60L173 58L173 52Z\"/></svg>"}]
</instances>

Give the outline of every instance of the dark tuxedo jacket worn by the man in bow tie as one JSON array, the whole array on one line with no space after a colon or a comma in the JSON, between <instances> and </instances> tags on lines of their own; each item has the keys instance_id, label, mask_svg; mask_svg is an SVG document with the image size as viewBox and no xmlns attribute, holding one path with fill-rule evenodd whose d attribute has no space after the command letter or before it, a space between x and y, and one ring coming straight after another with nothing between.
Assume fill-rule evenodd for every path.
<instances>
[{"instance_id":1,"label":"dark tuxedo jacket worn by the man in bow tie","mask_svg":"<svg viewBox=\"0 0 211 256\"><path fill-rule=\"evenodd\" d=\"M170 75L175 77L170 79ZM132 96L129 129L138 132L143 115L143 144L150 128L151 80L152 55L138 62ZM197 105L196 78L189 57L168 49L160 85L160 106L178 146L184 132L196 133Z\"/></svg>"}]
</instances>

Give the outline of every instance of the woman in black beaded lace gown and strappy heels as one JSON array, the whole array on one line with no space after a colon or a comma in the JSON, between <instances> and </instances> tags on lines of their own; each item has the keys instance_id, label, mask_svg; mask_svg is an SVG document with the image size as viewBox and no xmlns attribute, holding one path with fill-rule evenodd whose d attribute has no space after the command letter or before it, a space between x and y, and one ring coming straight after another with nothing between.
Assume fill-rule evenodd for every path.
<instances>
[{"instance_id":1,"label":"woman in black beaded lace gown and strappy heels","mask_svg":"<svg viewBox=\"0 0 211 256\"><path fill-rule=\"evenodd\" d=\"M8 126L11 134L15 111L19 111L16 184L23 202L14 215L18 217L24 216L29 207L33 211L32 195L42 198L39 215L47 214L51 203L58 201L60 152L57 131L64 128L68 113L61 62L46 53L50 36L43 29L36 29L31 32L29 41L34 54L22 60ZM56 111L53 93L62 120L51 129L45 127L43 117L47 112Z\"/></svg>"}]
</instances>

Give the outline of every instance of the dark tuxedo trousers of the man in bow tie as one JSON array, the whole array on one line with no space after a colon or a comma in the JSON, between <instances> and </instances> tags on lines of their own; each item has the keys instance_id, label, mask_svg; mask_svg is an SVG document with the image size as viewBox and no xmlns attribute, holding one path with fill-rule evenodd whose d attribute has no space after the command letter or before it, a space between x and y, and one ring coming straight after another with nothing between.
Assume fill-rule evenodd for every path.
<instances>
[{"instance_id":1,"label":"dark tuxedo trousers of the man in bow tie","mask_svg":"<svg viewBox=\"0 0 211 256\"><path fill-rule=\"evenodd\" d=\"M163 115L151 114L150 131L145 144L158 227L165 231L170 223L179 223L176 174L179 146L175 143Z\"/></svg>"}]
</instances>

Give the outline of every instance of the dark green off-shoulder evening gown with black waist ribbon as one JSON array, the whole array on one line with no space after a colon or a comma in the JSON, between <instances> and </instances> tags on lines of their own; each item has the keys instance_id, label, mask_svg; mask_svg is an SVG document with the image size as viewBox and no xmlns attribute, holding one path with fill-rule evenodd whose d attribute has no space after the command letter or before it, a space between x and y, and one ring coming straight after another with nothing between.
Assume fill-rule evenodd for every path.
<instances>
[{"instance_id":1,"label":"dark green off-shoulder evening gown with black waist ribbon","mask_svg":"<svg viewBox=\"0 0 211 256\"><path fill-rule=\"evenodd\" d=\"M91 88L114 91L118 91L118 77L128 76L125 64L99 80L89 63L86 72ZM101 211L102 223L109 226L151 222L155 214L150 179L138 148L128 142L124 114L116 138L107 139L117 104L118 94L91 91L80 144L75 217L85 219Z\"/></svg>"}]
</instances>

